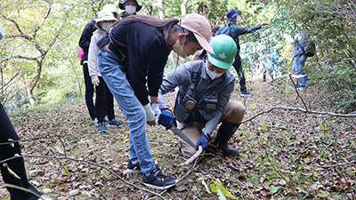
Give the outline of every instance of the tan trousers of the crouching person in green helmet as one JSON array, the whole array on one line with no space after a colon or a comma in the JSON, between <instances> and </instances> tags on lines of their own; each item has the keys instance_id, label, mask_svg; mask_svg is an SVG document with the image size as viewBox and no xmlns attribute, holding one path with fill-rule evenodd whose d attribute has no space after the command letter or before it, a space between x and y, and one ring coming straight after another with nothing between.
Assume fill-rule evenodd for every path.
<instances>
[{"instance_id":1,"label":"tan trousers of the crouching person in green helmet","mask_svg":"<svg viewBox=\"0 0 356 200\"><path fill-rule=\"evenodd\" d=\"M246 108L239 101L229 100L225 108L223 108L223 116L220 122L227 120L231 123L240 124L245 116ZM181 131L194 143L197 144L198 139L201 137L205 124L198 122L191 122L189 124L182 124L177 122L177 126ZM181 152L185 157L193 156L196 153L195 148L192 148L187 142L178 137L181 143Z\"/></svg>"}]
</instances>

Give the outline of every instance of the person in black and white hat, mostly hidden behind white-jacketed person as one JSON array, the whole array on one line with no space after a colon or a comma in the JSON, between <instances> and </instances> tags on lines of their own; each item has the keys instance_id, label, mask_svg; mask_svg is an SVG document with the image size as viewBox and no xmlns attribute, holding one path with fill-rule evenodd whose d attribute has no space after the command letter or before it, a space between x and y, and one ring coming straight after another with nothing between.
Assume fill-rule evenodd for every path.
<instances>
[{"instance_id":1,"label":"person in black and white hat, mostly hidden behind white-jacketed person","mask_svg":"<svg viewBox=\"0 0 356 200\"><path fill-rule=\"evenodd\" d=\"M106 4L103 6L102 11L109 11L114 14L114 17L118 18L117 8L114 4ZM79 46L84 51L84 57L82 60L83 65L83 73L85 80L85 103L86 108L88 108L89 115L93 120L93 124L98 125L98 119L96 118L95 107L93 103L93 95L94 95L94 85L92 83L92 78L89 76L88 69L88 55L89 55L89 45L90 40L93 36L93 32L97 29L95 27L95 20L91 20L89 23L85 25L85 28L82 32L82 36L79 39ZM106 109L104 109L106 110Z\"/></svg>"}]
</instances>

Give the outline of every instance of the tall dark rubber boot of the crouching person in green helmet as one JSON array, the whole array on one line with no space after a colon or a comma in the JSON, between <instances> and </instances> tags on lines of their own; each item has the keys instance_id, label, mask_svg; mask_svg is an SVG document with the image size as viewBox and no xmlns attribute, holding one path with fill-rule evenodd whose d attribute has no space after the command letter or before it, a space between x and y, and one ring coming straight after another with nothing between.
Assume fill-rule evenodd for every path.
<instances>
[{"instance_id":1,"label":"tall dark rubber boot of the crouching person in green helmet","mask_svg":"<svg viewBox=\"0 0 356 200\"><path fill-rule=\"evenodd\" d=\"M223 150L223 156L239 156L239 150L237 148L231 148L228 145L228 141L238 128L239 124L231 123L226 120L220 125L216 139L214 140L214 146Z\"/></svg>"}]
</instances>

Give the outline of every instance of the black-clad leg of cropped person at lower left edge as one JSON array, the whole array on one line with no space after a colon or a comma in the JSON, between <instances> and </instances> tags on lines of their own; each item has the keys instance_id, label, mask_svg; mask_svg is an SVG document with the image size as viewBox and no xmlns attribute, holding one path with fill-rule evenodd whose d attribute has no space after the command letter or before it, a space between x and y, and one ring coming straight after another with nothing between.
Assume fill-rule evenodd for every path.
<instances>
[{"instance_id":1,"label":"black-clad leg of cropped person at lower left edge","mask_svg":"<svg viewBox=\"0 0 356 200\"><path fill-rule=\"evenodd\" d=\"M14 142L9 141L13 140ZM0 103L0 169L3 175L4 183L27 188L40 195L36 188L28 183L26 175L25 164L22 157L13 158L4 161L5 159L13 157L15 154L21 155L21 147L19 144L20 138L15 132L12 123ZM8 170L6 165L15 172L20 179L15 178ZM37 200L38 197L28 192L16 188L7 188L10 192L12 200Z\"/></svg>"}]
</instances>

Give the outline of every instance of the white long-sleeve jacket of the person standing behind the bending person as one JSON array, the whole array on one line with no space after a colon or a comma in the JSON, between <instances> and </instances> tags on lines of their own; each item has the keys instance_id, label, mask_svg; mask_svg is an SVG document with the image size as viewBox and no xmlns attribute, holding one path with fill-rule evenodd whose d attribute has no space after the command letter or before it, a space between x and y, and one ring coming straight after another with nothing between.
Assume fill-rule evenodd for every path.
<instances>
[{"instance_id":1,"label":"white long-sleeve jacket of the person standing behind the bending person","mask_svg":"<svg viewBox=\"0 0 356 200\"><path fill-rule=\"evenodd\" d=\"M105 30L98 28L93 33L93 36L90 40L89 45L89 53L88 53L88 69L89 69L89 76L101 76L101 73L98 68L98 56L97 53L99 52L99 47L96 44L102 36L106 33Z\"/></svg>"}]
</instances>

